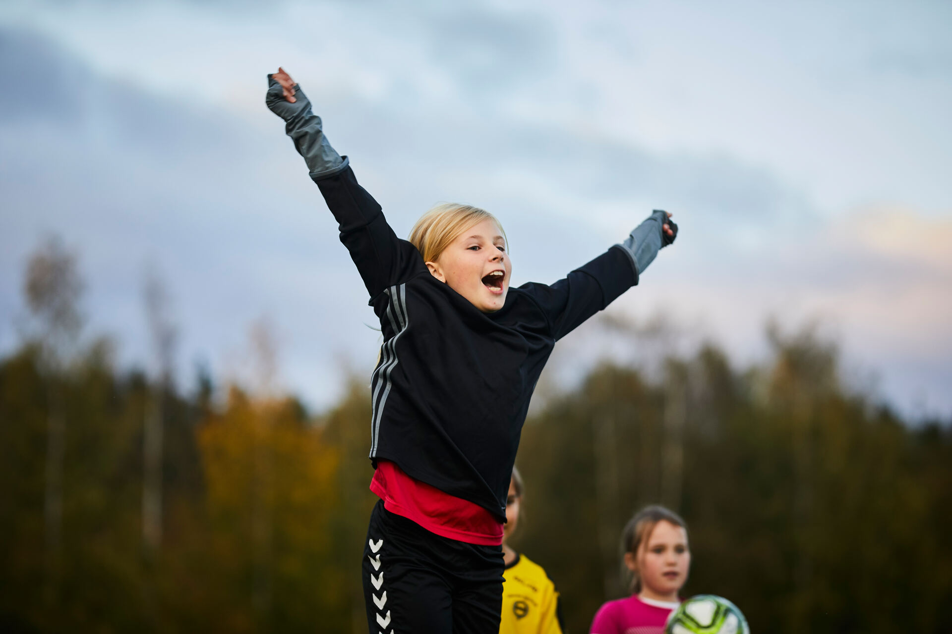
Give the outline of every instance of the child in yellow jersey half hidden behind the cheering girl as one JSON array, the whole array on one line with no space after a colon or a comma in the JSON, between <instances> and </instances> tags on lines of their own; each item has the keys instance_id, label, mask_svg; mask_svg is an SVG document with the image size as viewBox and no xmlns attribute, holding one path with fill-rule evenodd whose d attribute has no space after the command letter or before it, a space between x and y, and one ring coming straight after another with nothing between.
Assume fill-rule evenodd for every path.
<instances>
[{"instance_id":1,"label":"child in yellow jersey half hidden behind the cheering girl","mask_svg":"<svg viewBox=\"0 0 952 634\"><path fill-rule=\"evenodd\" d=\"M503 528L503 556L506 570L503 577L503 618L500 634L562 634L565 626L559 593L543 567L529 561L509 546L508 540L519 524L519 507L523 501L523 478L512 468L509 494L506 497L506 526Z\"/></svg>"}]
</instances>

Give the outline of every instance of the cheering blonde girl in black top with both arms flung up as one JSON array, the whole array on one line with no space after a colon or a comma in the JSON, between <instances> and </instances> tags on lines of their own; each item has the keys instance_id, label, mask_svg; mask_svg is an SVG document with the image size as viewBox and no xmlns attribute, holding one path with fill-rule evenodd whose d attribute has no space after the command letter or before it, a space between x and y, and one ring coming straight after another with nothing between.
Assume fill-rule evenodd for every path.
<instances>
[{"instance_id":1,"label":"cheering blonde girl in black top with both arms flung up","mask_svg":"<svg viewBox=\"0 0 952 634\"><path fill-rule=\"evenodd\" d=\"M532 390L555 342L637 284L677 226L656 211L565 279L510 288L491 214L440 205L400 240L300 86L280 68L268 80L268 107L338 221L384 336L370 383L369 629L496 634L506 492Z\"/></svg>"}]
</instances>

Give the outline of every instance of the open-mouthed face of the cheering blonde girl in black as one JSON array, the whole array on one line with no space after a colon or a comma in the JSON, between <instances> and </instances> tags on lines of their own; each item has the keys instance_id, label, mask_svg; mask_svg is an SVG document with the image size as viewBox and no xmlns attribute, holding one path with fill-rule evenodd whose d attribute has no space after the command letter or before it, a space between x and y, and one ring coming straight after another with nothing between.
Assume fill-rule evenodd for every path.
<instances>
[{"instance_id":1,"label":"open-mouthed face of the cheering blonde girl in black","mask_svg":"<svg viewBox=\"0 0 952 634\"><path fill-rule=\"evenodd\" d=\"M512 264L503 232L490 219L464 231L426 267L484 313L494 313L506 303Z\"/></svg>"}]
</instances>

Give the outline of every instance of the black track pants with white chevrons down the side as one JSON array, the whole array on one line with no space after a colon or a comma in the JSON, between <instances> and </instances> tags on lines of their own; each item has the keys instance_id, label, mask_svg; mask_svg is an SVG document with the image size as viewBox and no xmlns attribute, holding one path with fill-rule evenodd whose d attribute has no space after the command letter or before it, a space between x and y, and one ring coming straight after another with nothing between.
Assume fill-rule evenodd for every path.
<instances>
[{"instance_id":1,"label":"black track pants with white chevrons down the side","mask_svg":"<svg viewBox=\"0 0 952 634\"><path fill-rule=\"evenodd\" d=\"M440 537L384 509L370 513L364 601L370 634L499 634L503 551Z\"/></svg>"}]
</instances>

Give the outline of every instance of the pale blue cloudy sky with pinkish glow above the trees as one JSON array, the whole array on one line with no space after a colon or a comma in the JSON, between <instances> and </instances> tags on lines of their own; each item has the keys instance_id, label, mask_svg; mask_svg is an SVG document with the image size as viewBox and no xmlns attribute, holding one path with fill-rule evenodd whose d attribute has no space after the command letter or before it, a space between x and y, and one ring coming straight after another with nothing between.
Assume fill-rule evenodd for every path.
<instances>
[{"instance_id":1,"label":"pale blue cloudy sky with pinkish glow above the trees","mask_svg":"<svg viewBox=\"0 0 952 634\"><path fill-rule=\"evenodd\" d=\"M435 202L477 204L505 225L513 283L552 282L663 208L679 239L610 316L663 316L738 364L767 354L769 319L817 324L877 397L947 418L950 28L940 2L8 0L0 353L56 234L88 336L126 366L154 357L152 271L184 385L198 364L248 379L255 323L312 407L369 375L366 291L264 106L280 65L398 235ZM598 328L556 360L610 353Z\"/></svg>"}]
</instances>

